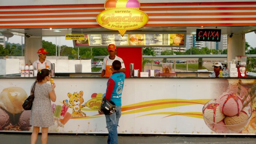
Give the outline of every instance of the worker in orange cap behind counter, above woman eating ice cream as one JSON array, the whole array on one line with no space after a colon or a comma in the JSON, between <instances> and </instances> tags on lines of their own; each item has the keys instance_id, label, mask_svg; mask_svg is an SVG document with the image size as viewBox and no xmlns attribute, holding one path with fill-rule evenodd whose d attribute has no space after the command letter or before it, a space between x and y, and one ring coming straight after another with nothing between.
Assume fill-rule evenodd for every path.
<instances>
[{"instance_id":1,"label":"worker in orange cap behind counter, above woman eating ice cream","mask_svg":"<svg viewBox=\"0 0 256 144\"><path fill-rule=\"evenodd\" d=\"M50 70L51 69L51 62L49 60L46 60L46 54L49 54L49 52L46 52L44 48L40 48L38 50L38 60L33 62L34 69L42 70L44 68Z\"/></svg>"}]
</instances>

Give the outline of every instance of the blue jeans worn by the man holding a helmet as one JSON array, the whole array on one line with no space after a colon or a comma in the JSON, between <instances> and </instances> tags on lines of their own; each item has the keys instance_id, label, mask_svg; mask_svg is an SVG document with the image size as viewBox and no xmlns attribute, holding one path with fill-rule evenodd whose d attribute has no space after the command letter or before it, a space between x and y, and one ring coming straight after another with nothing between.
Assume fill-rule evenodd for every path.
<instances>
[{"instance_id":1,"label":"blue jeans worn by the man holding a helmet","mask_svg":"<svg viewBox=\"0 0 256 144\"><path fill-rule=\"evenodd\" d=\"M121 117L121 106L116 106L113 114L105 115L108 128L108 144L118 144L117 126Z\"/></svg>"}]
</instances>

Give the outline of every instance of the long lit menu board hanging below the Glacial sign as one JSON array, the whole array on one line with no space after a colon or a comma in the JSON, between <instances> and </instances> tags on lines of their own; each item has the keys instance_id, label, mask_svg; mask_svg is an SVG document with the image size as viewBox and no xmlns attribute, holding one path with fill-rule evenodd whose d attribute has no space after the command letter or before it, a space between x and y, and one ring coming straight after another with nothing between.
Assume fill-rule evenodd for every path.
<instances>
[{"instance_id":1,"label":"long lit menu board hanging below the Glacial sign","mask_svg":"<svg viewBox=\"0 0 256 144\"><path fill-rule=\"evenodd\" d=\"M183 34L86 34L75 46L184 46Z\"/></svg>"}]
</instances>

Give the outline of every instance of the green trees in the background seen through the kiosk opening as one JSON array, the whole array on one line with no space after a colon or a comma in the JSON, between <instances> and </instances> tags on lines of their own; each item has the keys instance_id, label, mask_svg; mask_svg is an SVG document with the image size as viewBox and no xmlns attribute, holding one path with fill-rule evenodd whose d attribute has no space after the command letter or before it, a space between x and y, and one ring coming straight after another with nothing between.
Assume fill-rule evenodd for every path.
<instances>
[{"instance_id":1,"label":"green trees in the background seen through the kiosk opening","mask_svg":"<svg viewBox=\"0 0 256 144\"><path fill-rule=\"evenodd\" d=\"M59 49L56 50L56 45L52 44L52 42L48 42L42 40L42 48L45 48L47 52L49 52L48 56L56 56L59 54ZM246 54L256 54L256 48L252 48L245 42L245 50ZM153 48L143 48L143 55L151 55L155 56ZM195 54L227 54L227 50L215 50L209 49L207 47L204 48L189 48L185 52L177 52L173 50L165 50L161 52L161 55L195 55ZM94 56L106 56L108 55L108 49L104 48L79 48L79 56L78 56L78 48L68 47L66 45L60 48L60 56L68 56L68 59L78 59L78 58L94 58ZM0 45L0 56L24 56L24 46L22 48L21 44L11 44L6 42L5 48Z\"/></svg>"}]
</instances>

